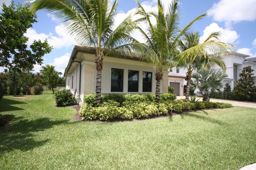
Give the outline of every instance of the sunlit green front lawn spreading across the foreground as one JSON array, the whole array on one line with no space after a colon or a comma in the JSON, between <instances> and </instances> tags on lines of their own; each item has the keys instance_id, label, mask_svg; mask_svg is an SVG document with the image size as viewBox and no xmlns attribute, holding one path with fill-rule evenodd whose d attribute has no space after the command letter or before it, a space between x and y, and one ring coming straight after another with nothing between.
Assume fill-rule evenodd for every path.
<instances>
[{"instance_id":1,"label":"sunlit green front lawn spreading across the foreground","mask_svg":"<svg viewBox=\"0 0 256 170\"><path fill-rule=\"evenodd\" d=\"M77 122L53 95L5 96L0 169L238 169L256 162L256 109Z\"/></svg>"}]
</instances>

